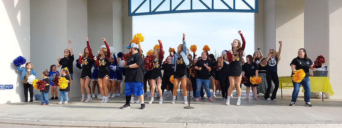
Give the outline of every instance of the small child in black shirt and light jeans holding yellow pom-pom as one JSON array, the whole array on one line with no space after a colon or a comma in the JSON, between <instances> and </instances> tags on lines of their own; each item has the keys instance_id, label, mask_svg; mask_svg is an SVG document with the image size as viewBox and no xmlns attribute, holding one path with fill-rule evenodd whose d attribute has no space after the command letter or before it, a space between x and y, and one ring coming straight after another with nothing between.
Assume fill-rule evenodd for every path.
<instances>
[{"instance_id":1,"label":"small child in black shirt and light jeans holding yellow pom-pom","mask_svg":"<svg viewBox=\"0 0 342 128\"><path fill-rule=\"evenodd\" d=\"M66 87L65 89L60 89L61 97L60 97L60 102L58 102L58 104L62 104L63 96L64 96L63 104L68 104L68 91L70 90L70 84L71 84L70 73L69 73L68 68L61 69L61 74L63 75L61 77L64 77L66 81L68 82L68 87Z\"/></svg>"}]
</instances>

